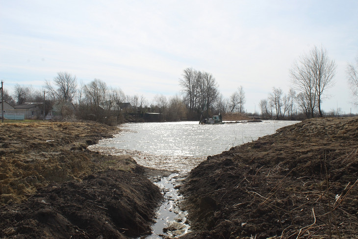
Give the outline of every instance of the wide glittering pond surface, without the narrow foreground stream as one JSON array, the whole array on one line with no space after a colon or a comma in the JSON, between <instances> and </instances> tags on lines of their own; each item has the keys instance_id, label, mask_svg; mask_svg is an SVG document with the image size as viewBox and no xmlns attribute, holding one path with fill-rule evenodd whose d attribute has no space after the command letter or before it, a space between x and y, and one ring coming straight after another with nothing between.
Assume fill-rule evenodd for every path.
<instances>
[{"instance_id":1,"label":"wide glittering pond surface, without the narrow foreground stream","mask_svg":"<svg viewBox=\"0 0 358 239\"><path fill-rule=\"evenodd\" d=\"M197 121L127 123L113 138L89 148L111 155L128 154L137 163L157 169L188 172L209 155L251 142L299 121L263 121L199 125Z\"/></svg>"}]
</instances>

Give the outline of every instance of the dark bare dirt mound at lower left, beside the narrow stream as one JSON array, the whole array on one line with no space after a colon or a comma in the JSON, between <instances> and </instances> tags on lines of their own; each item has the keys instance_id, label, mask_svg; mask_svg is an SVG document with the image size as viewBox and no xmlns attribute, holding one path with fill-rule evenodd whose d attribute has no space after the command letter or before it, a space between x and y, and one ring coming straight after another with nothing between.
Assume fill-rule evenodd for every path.
<instances>
[{"instance_id":1,"label":"dark bare dirt mound at lower left, beside the narrow stream","mask_svg":"<svg viewBox=\"0 0 358 239\"><path fill-rule=\"evenodd\" d=\"M81 182L51 183L26 203L1 209L0 237L135 237L151 231L160 198L149 180L118 170L91 174Z\"/></svg>"}]
</instances>

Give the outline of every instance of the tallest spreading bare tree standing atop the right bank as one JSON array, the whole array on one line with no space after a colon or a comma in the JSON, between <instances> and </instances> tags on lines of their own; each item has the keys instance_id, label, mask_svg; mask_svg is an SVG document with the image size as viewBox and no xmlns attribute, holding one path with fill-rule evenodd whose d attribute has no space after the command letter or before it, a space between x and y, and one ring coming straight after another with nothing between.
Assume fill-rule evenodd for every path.
<instances>
[{"instance_id":1,"label":"tallest spreading bare tree standing atop the right bank","mask_svg":"<svg viewBox=\"0 0 358 239\"><path fill-rule=\"evenodd\" d=\"M323 92L326 88L332 87L335 75L336 64L330 60L327 51L316 46L306 55L295 62L290 75L295 89L306 94L311 117L314 116L314 109L318 107L319 115L322 117L321 103Z\"/></svg>"}]
</instances>

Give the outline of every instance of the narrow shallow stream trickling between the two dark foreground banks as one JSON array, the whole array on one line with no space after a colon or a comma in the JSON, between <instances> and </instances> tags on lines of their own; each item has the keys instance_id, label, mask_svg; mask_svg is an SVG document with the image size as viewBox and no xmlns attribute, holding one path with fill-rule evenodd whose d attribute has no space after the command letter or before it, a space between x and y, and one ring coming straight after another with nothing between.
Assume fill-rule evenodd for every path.
<instances>
[{"instance_id":1,"label":"narrow shallow stream trickling between the two dark foreground banks","mask_svg":"<svg viewBox=\"0 0 358 239\"><path fill-rule=\"evenodd\" d=\"M178 189L182 177L179 173L172 173L168 177L163 177L158 182L154 182L159 186L163 194L163 203L157 210L155 223L152 226L152 235L144 236L139 239L166 239L182 236L190 230L189 223L186 219L186 212L179 208Z\"/></svg>"}]
</instances>

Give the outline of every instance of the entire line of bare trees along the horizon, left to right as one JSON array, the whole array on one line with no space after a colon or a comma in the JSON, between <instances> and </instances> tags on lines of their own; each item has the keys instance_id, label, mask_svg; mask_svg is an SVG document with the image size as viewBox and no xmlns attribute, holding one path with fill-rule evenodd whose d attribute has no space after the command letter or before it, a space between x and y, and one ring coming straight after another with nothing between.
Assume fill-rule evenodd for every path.
<instances>
[{"instance_id":1,"label":"entire line of bare trees along the horizon, left to right","mask_svg":"<svg viewBox=\"0 0 358 239\"><path fill-rule=\"evenodd\" d=\"M358 58L356 66L348 64L347 79L350 83L353 103L358 105ZM300 56L290 69L292 87L285 94L280 87L273 87L267 98L259 101L263 119L297 119L322 117L324 92L334 84L336 72L334 60L327 51L314 47ZM55 104L71 104L76 110L64 110L63 117L77 117L116 124L138 120L144 113L159 113L160 120L198 120L201 115L245 113L245 91L242 85L228 97L219 91L215 77L208 72L193 68L183 70L179 78L180 94L167 98L156 95L153 102L143 96L126 95L120 88L107 86L105 81L94 79L84 84L68 72L58 72L52 81L45 81L43 90L16 84L12 94L3 89L3 100L10 105L25 102L42 103L45 100L47 114ZM332 112L329 112L332 114ZM338 113L338 112L336 112ZM334 114L334 112L333 112ZM125 119L132 117L136 119Z\"/></svg>"}]
</instances>

